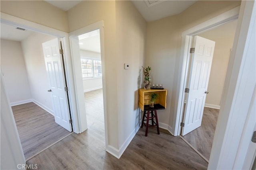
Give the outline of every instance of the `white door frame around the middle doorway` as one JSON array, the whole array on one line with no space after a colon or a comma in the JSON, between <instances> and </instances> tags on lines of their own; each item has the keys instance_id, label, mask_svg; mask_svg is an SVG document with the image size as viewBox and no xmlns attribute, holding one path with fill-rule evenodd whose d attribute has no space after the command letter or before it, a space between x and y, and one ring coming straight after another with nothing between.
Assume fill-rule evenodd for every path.
<instances>
[{"instance_id":1,"label":"white door frame around the middle doorway","mask_svg":"<svg viewBox=\"0 0 256 170\"><path fill-rule=\"evenodd\" d=\"M103 89L103 105L104 105L104 126L105 126L105 145L106 148L108 146L108 119L107 119L107 104L106 104L106 69L105 69L105 53L104 53L104 22L103 20L98 21L96 23L92 23L91 25L87 25L85 27L82 27L80 29L77 29L75 31L72 31L71 33L69 33L70 36L70 47L72 50L72 42L71 39L73 37L76 37L78 35L82 35L84 33L88 33L90 31L94 31L96 29L100 29L100 55L101 55L101 62L102 62L102 89ZM73 55L73 53L71 53L71 56ZM80 61L79 63L77 63L76 61L74 61L74 56L72 56L72 62L73 62L73 68L74 68L74 82L75 82L75 91L77 93L80 94L84 94L84 89L81 86L82 84L82 79L80 78L81 76L79 76L81 74L81 68L80 68ZM76 64L80 64L79 66L76 66ZM82 102L84 102L84 95L76 95L76 100L77 100L77 107L78 107L78 114L80 115L80 117L84 117L86 116L86 113L82 113L81 111L84 110L84 105L80 104ZM86 119L85 119L86 120ZM82 123L82 122L81 122ZM86 130L87 127L82 127L82 130Z\"/></svg>"}]
</instances>

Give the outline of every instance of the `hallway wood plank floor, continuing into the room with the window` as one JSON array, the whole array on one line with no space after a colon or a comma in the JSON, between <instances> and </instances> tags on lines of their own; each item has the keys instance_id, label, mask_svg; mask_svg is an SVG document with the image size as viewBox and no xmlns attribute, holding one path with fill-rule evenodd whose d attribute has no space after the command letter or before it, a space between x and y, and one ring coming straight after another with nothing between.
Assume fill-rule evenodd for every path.
<instances>
[{"instance_id":1,"label":"hallway wood plank floor, continuing into the room with the window","mask_svg":"<svg viewBox=\"0 0 256 170\"><path fill-rule=\"evenodd\" d=\"M98 102L95 102L95 98ZM93 99L94 98L94 99ZM140 128L120 159L105 151L102 90L85 93L88 130L66 137L30 159L38 169L137 170L137 169L207 169L208 163L180 137L166 130Z\"/></svg>"}]
</instances>

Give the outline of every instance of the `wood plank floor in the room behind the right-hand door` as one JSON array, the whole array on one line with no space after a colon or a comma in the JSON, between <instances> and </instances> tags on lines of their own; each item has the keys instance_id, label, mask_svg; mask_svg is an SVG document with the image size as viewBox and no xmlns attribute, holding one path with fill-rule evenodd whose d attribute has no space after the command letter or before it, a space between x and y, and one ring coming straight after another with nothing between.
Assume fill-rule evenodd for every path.
<instances>
[{"instance_id":1,"label":"wood plank floor in the room behind the right-hand door","mask_svg":"<svg viewBox=\"0 0 256 170\"><path fill-rule=\"evenodd\" d=\"M184 136L198 152L200 152L208 160L212 149L212 141L218 120L219 109L204 107L204 114L201 127Z\"/></svg>"}]
</instances>

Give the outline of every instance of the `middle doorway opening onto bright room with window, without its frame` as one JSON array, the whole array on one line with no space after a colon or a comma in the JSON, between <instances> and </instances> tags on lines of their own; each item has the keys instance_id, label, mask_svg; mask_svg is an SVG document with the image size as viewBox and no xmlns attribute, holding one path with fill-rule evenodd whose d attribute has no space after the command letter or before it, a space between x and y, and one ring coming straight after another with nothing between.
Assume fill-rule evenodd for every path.
<instances>
[{"instance_id":1,"label":"middle doorway opening onto bright room with window, without its frame","mask_svg":"<svg viewBox=\"0 0 256 170\"><path fill-rule=\"evenodd\" d=\"M104 140L100 29L78 35L87 127Z\"/></svg>"}]
</instances>

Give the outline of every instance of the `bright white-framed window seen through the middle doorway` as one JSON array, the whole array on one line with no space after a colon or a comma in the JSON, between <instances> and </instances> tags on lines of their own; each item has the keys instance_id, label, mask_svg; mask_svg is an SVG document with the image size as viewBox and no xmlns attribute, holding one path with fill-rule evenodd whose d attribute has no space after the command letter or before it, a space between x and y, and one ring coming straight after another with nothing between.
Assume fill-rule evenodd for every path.
<instances>
[{"instance_id":1,"label":"bright white-framed window seen through the middle doorway","mask_svg":"<svg viewBox=\"0 0 256 170\"><path fill-rule=\"evenodd\" d=\"M94 78L102 76L100 60L81 58L81 66L83 78Z\"/></svg>"}]
</instances>

